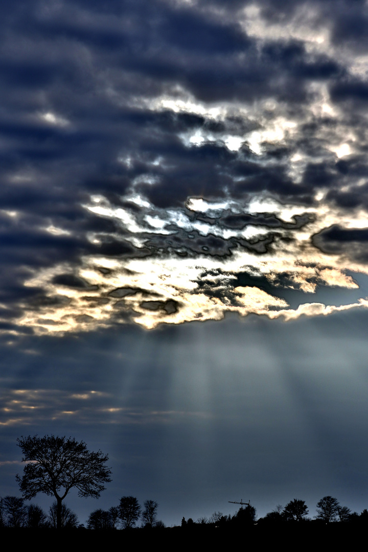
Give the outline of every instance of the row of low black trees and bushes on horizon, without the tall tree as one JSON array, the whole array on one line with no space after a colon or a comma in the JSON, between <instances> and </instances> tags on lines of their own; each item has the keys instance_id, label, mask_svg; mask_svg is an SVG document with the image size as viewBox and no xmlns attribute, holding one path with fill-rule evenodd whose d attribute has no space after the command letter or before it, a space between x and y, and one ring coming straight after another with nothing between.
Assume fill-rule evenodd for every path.
<instances>
[{"instance_id":1,"label":"row of low black trees and bushes on horizon, without the tall tree","mask_svg":"<svg viewBox=\"0 0 368 552\"><path fill-rule=\"evenodd\" d=\"M112 506L108 510L95 509L89 514L87 529L132 529L132 528L156 528L163 529L165 524L157 519L158 503L155 500L146 500L143 508L134 496L123 496L118 506ZM368 511L364 509L360 514L351 512L347 506L341 506L332 496L324 496L317 502L317 515L313 519L308 517L308 507L303 500L294 498L286 506L277 505L273 511L266 513L264 517L257 519L255 508L250 505L241 507L231 515L222 512L214 512L207 518L193 519L182 518L182 523L177 529L184 530L210 529L210 527L242 529L252 526L293 526L314 523L355 523L368 526ZM56 529L57 505L52 503L49 513L46 514L38 505L25 505L23 498L16 496L0 497L0 527L5 528L31 528L31 529ZM79 524L77 514L65 504L62 505L61 527L64 529L84 528Z\"/></svg>"}]
</instances>

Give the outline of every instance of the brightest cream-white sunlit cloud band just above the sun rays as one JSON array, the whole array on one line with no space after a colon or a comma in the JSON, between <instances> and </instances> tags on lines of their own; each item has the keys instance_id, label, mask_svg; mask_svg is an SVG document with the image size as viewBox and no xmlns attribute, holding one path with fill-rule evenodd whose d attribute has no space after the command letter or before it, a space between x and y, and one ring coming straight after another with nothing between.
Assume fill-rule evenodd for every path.
<instances>
[{"instance_id":1,"label":"brightest cream-white sunlit cloud band just above the sun rays","mask_svg":"<svg viewBox=\"0 0 368 552\"><path fill-rule=\"evenodd\" d=\"M359 289L346 270L368 273L366 264L345 253L324 253L313 243L313 236L334 224L358 228L364 223L359 210L344 214L323 204L303 209L266 197L253 197L243 206L231 199L189 198L188 210L159 210L147 202L137 215L105 198L96 203L93 198L85 208L118 222L137 254L125 259L85 255L78 268L63 264L36 272L26 285L43 289L49 304L36 311L25 307L20 325L62 335L126 322L152 329L161 323L221 320L226 312L292 320L366 306L364 298L325 306L305 304L302 297L321 286ZM190 213L212 216L211 224ZM240 221L240 229L234 221ZM237 285L239 274L253 278L252 285ZM286 290L298 293L297 309L283 298Z\"/></svg>"}]
</instances>

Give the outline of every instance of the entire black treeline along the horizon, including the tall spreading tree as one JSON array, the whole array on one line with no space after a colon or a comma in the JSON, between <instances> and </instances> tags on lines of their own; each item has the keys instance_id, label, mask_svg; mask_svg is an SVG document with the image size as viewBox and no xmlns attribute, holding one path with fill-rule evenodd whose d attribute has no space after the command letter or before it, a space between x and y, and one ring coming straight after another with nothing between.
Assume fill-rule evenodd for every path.
<instances>
[{"instance_id":1,"label":"entire black treeline along the horizon, including the tall spreading tree","mask_svg":"<svg viewBox=\"0 0 368 552\"><path fill-rule=\"evenodd\" d=\"M16 475L23 498L6 496L0 498L0 527L9 528L76 528L78 519L63 500L67 492L77 487L78 495L98 498L105 489L104 484L111 481L111 469L106 466L108 455L101 450L91 452L84 441L65 436L45 435L44 437L28 436L17 439L18 446L22 449L25 462L23 476ZM55 462L54 459L57 458ZM25 506L24 500L31 500L39 492L54 496L54 502L49 514L36 505ZM308 518L308 507L303 500L294 498L285 507L276 506L272 512L268 512L263 518L256 518L256 511L250 503L246 508L239 508L233 516L224 516L221 512L214 512L207 519L199 518L196 522L189 518L182 519L178 530L193 529L197 527L228 527L242 529L244 526L264 527L272 523L280 527L287 524L290 528L306 525L303 522L321 522L330 527L346 526L347 523L356 522L366 524L368 512L364 509L361 514L351 512L347 506L341 506L332 496L324 496L318 501L317 516ZM109 510L96 509L90 513L87 522L88 529L132 529L141 523L141 528L164 528L162 521L157 521L158 503L154 500L146 500L143 509L134 496L123 496L119 505ZM331 523L335 522L335 523ZM147 531L145 532L148 533ZM127 534L127 533L126 533Z\"/></svg>"}]
</instances>

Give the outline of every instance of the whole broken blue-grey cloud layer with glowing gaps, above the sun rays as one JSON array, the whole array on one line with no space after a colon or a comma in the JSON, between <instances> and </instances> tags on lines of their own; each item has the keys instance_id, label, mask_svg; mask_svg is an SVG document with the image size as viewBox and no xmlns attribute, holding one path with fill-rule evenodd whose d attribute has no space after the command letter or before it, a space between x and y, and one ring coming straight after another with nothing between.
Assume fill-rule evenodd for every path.
<instances>
[{"instance_id":1,"label":"whole broken blue-grey cloud layer with glowing gaps, above the sun rays","mask_svg":"<svg viewBox=\"0 0 368 552\"><path fill-rule=\"evenodd\" d=\"M368 305L366 2L0 10L6 335Z\"/></svg>"}]
</instances>

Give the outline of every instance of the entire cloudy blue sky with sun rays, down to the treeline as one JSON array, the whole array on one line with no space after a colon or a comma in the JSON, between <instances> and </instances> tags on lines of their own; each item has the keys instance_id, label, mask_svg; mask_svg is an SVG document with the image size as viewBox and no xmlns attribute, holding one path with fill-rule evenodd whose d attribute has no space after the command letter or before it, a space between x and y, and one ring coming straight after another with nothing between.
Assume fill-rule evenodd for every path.
<instances>
[{"instance_id":1,"label":"entire cloudy blue sky with sun rays, down to the treeline","mask_svg":"<svg viewBox=\"0 0 368 552\"><path fill-rule=\"evenodd\" d=\"M0 4L0 494L368 507L368 2ZM34 500L45 509L51 497Z\"/></svg>"}]
</instances>

